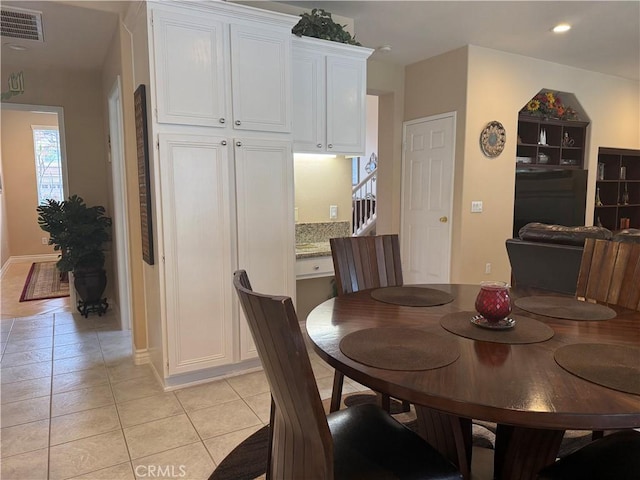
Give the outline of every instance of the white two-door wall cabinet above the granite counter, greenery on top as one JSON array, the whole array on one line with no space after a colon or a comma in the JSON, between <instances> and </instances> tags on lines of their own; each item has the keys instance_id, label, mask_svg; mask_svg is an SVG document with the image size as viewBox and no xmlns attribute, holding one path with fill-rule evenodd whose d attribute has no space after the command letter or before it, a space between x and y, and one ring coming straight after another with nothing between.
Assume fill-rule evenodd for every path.
<instances>
[{"instance_id":1,"label":"white two-door wall cabinet above the granite counter, greenery on top","mask_svg":"<svg viewBox=\"0 0 640 480\"><path fill-rule=\"evenodd\" d=\"M364 155L367 58L372 49L293 39L296 153Z\"/></svg>"}]
</instances>

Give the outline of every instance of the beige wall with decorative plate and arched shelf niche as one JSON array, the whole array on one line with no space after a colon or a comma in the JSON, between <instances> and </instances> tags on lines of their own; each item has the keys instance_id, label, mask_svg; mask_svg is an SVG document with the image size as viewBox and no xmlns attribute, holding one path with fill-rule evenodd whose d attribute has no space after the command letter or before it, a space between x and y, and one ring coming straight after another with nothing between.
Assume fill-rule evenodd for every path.
<instances>
[{"instance_id":1,"label":"beige wall with decorative plate and arched shelf niche","mask_svg":"<svg viewBox=\"0 0 640 480\"><path fill-rule=\"evenodd\" d=\"M591 172L599 146L640 146L638 82L475 46L411 65L406 77L405 120L458 112L453 282L510 278L504 242L513 223L518 111L540 89L574 93L589 115L586 162ZM488 159L478 138L492 120L504 125L507 144L499 157ZM588 198L594 190L595 176L590 175ZM483 201L483 213L470 213L472 200ZM587 201L587 224L592 217L593 205ZM486 263L492 264L491 275L484 273Z\"/></svg>"}]
</instances>

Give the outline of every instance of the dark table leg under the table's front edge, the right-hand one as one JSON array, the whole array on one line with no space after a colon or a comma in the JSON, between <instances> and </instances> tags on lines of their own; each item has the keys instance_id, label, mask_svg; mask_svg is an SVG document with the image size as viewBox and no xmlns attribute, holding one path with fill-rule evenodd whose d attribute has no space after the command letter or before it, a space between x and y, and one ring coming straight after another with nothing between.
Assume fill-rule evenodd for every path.
<instances>
[{"instance_id":1,"label":"dark table leg under the table's front edge, the right-hand one","mask_svg":"<svg viewBox=\"0 0 640 480\"><path fill-rule=\"evenodd\" d=\"M495 480L535 480L556 459L564 430L498 425L493 460Z\"/></svg>"}]
</instances>

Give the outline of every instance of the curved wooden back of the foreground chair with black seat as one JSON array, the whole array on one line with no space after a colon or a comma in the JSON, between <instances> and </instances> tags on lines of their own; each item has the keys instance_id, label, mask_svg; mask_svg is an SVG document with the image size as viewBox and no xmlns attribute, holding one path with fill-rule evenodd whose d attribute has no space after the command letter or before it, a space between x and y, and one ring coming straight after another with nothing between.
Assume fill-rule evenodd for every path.
<instances>
[{"instance_id":1,"label":"curved wooden back of the foreground chair with black seat","mask_svg":"<svg viewBox=\"0 0 640 480\"><path fill-rule=\"evenodd\" d=\"M233 283L273 398L268 478L333 478L333 440L293 303L254 293L244 270Z\"/></svg>"}]
</instances>

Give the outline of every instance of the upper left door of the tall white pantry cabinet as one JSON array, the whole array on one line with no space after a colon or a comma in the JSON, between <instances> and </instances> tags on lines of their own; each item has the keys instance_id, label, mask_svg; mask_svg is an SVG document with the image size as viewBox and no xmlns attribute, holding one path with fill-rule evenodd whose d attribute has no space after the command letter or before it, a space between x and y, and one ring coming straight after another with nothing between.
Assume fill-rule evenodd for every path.
<instances>
[{"instance_id":1,"label":"upper left door of the tall white pantry cabinet","mask_svg":"<svg viewBox=\"0 0 640 480\"><path fill-rule=\"evenodd\" d=\"M224 24L154 12L158 122L224 127Z\"/></svg>"}]
</instances>

